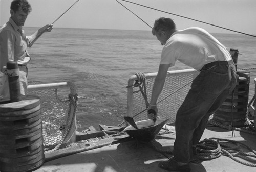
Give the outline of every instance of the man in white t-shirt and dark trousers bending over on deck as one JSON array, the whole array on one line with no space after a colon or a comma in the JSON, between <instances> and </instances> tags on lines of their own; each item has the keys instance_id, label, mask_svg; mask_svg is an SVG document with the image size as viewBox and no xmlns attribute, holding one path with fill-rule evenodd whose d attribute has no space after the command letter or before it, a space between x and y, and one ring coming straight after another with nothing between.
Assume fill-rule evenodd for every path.
<instances>
[{"instance_id":1,"label":"man in white t-shirt and dark trousers bending over on deck","mask_svg":"<svg viewBox=\"0 0 256 172\"><path fill-rule=\"evenodd\" d=\"M176 115L174 157L159 163L168 171L187 172L209 116L236 86L236 68L226 48L204 29L176 30L172 19L161 17L155 21L152 33L164 47L148 107L156 114L148 113L148 118L157 116L156 103L169 67L178 60L200 71Z\"/></svg>"}]
</instances>

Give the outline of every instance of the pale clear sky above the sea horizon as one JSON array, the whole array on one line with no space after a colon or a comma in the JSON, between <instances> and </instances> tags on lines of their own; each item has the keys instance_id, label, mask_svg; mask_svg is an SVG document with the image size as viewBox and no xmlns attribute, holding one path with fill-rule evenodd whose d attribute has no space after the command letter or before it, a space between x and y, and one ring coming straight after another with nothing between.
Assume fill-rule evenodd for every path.
<instances>
[{"instance_id":1,"label":"pale clear sky above the sea horizon","mask_svg":"<svg viewBox=\"0 0 256 172\"><path fill-rule=\"evenodd\" d=\"M201 27L210 33L234 33L208 24L163 13L135 4L118 0L147 24L153 26L155 19L170 17L174 19L177 29ZM129 0L147 7L168 13L193 18L217 26L256 34L255 0ZM12 0L0 0L0 26L10 17ZM25 27L42 27L55 23L56 28L88 28L115 30L148 30L151 28L116 0L29 0L32 12Z\"/></svg>"}]
</instances>

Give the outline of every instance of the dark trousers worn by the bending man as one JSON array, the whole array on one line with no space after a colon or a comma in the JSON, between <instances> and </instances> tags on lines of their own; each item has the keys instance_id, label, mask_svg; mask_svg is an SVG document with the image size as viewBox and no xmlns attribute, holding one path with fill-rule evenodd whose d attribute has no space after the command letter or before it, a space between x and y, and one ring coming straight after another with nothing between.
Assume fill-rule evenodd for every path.
<instances>
[{"instance_id":1,"label":"dark trousers worn by the bending man","mask_svg":"<svg viewBox=\"0 0 256 172\"><path fill-rule=\"evenodd\" d=\"M201 70L177 112L175 160L189 162L193 159L193 145L200 141L209 116L226 100L236 83L233 63L207 65Z\"/></svg>"}]
</instances>

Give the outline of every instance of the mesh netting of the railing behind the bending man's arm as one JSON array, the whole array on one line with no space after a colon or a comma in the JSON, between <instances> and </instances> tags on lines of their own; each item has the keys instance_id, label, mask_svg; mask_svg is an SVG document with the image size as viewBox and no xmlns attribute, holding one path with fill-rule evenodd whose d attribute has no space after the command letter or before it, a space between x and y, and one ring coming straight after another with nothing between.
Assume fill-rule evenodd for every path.
<instances>
[{"instance_id":1,"label":"mesh netting of the railing behind the bending man's arm","mask_svg":"<svg viewBox=\"0 0 256 172\"><path fill-rule=\"evenodd\" d=\"M161 119L169 119L168 123L175 122L176 113L181 106L185 96L190 89L191 82L196 75L195 70L180 70L179 72L168 72L164 88L159 95L157 107L158 107L158 117ZM146 92L147 100L151 99L151 92L154 85L155 75L146 75ZM136 76L131 77L129 83L133 83L136 80ZM132 85L127 86L128 89L133 89L132 91L132 102L128 102L128 106L132 107L132 112L127 112L132 114L135 121L145 120L147 118L145 99L142 96L139 87L133 87ZM129 105L130 104L130 105Z\"/></svg>"}]
</instances>

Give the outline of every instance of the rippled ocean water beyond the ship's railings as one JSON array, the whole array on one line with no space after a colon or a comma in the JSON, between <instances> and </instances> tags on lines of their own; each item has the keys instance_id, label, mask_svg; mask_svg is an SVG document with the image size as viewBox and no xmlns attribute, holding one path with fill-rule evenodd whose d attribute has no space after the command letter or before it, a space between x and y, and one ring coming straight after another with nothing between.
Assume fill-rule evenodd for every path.
<instances>
[{"instance_id":1,"label":"rippled ocean water beyond the ship's railings","mask_svg":"<svg viewBox=\"0 0 256 172\"><path fill-rule=\"evenodd\" d=\"M27 35L38 28L24 27ZM239 50L238 69L256 68L256 38L214 34L228 50ZM75 83L79 130L123 121L127 81L137 72L158 71L162 46L151 31L54 28L29 49L30 83ZM177 63L170 70L188 69ZM254 95L256 69L251 72L249 99Z\"/></svg>"}]
</instances>

